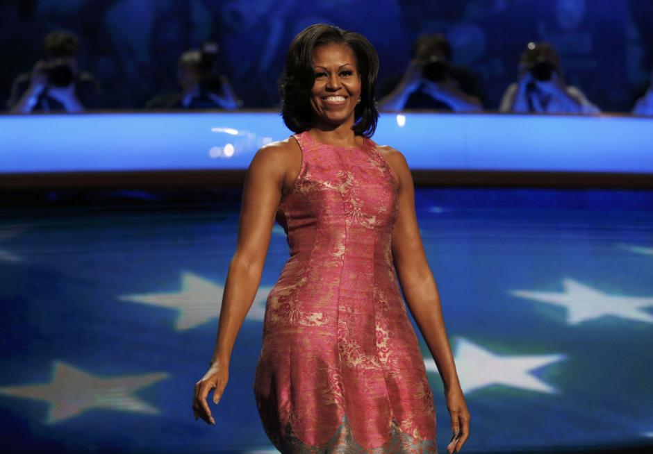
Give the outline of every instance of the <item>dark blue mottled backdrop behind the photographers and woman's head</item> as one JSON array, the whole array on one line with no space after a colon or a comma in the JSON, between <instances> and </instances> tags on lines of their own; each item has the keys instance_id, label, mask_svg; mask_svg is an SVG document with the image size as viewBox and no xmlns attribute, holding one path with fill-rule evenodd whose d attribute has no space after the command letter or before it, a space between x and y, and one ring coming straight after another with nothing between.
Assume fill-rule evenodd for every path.
<instances>
[{"instance_id":1,"label":"dark blue mottled backdrop behind the photographers and woman's head","mask_svg":"<svg viewBox=\"0 0 653 454\"><path fill-rule=\"evenodd\" d=\"M82 67L96 74L109 108L141 108L176 89L176 59L204 40L245 106L274 106L292 37L316 22L359 31L379 51L379 89L401 76L420 33L443 32L454 60L474 69L497 108L527 42L559 49L570 83L603 110L629 111L653 67L652 0L9 0L0 4L0 102L31 69L42 37L78 33Z\"/></svg>"}]
</instances>

